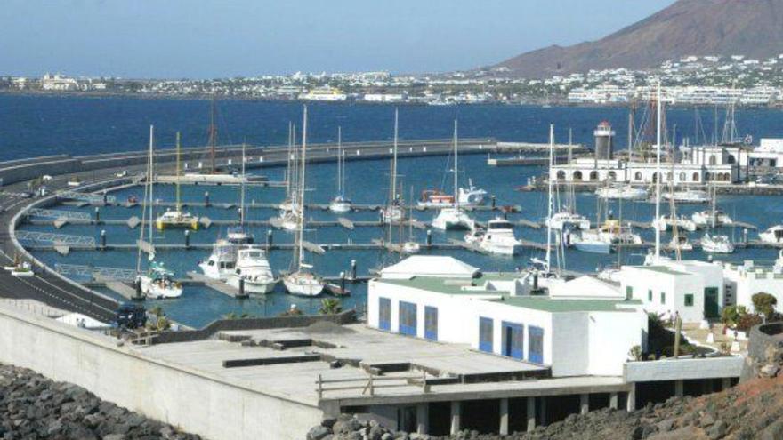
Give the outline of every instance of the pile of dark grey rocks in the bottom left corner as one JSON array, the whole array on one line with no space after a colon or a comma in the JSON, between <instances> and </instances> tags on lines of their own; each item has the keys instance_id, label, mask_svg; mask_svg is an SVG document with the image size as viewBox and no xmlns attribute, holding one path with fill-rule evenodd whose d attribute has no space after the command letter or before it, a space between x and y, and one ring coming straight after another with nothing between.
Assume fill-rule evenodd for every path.
<instances>
[{"instance_id":1,"label":"pile of dark grey rocks in the bottom left corner","mask_svg":"<svg viewBox=\"0 0 783 440\"><path fill-rule=\"evenodd\" d=\"M140 378L143 380L143 378ZM85 388L0 364L0 439L195 440L171 425L101 401Z\"/></svg>"}]
</instances>

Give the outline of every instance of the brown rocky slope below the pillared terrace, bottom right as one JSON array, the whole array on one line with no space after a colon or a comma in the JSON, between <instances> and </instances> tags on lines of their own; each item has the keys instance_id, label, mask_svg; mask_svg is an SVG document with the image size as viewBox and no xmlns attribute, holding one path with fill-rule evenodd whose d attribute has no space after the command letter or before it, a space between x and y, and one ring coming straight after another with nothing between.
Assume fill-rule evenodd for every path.
<instances>
[{"instance_id":1,"label":"brown rocky slope below the pillared terrace, bottom right","mask_svg":"<svg viewBox=\"0 0 783 440\"><path fill-rule=\"evenodd\" d=\"M417 436L395 432L343 415L312 428L308 440L780 440L783 438L783 378L748 380L721 393L672 397L626 412L603 409L532 432L510 436L464 430L456 436Z\"/></svg>"}]
</instances>

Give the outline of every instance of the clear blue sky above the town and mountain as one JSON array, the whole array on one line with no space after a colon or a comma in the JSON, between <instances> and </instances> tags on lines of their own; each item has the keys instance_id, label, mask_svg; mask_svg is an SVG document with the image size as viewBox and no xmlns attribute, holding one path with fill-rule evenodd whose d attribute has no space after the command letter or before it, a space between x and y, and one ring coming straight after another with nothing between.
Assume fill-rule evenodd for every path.
<instances>
[{"instance_id":1,"label":"clear blue sky above the town and mountain","mask_svg":"<svg viewBox=\"0 0 783 440\"><path fill-rule=\"evenodd\" d=\"M447 72L593 40L674 0L3 0L0 75Z\"/></svg>"}]
</instances>

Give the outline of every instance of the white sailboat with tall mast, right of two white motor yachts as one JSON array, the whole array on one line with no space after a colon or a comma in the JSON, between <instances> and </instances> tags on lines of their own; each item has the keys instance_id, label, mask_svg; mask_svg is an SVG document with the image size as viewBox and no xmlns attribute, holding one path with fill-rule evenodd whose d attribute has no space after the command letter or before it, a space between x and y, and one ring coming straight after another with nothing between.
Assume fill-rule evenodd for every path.
<instances>
[{"instance_id":1,"label":"white sailboat with tall mast, right of two white motor yachts","mask_svg":"<svg viewBox=\"0 0 783 440\"><path fill-rule=\"evenodd\" d=\"M310 264L304 263L304 169L307 156L307 106L304 106L302 124L302 167L300 169L299 206L302 212L299 215L299 227L296 229L294 245L294 261L296 270L283 276L283 284L288 293L300 296L318 296L324 291L326 284L323 279L312 273Z\"/></svg>"}]
</instances>

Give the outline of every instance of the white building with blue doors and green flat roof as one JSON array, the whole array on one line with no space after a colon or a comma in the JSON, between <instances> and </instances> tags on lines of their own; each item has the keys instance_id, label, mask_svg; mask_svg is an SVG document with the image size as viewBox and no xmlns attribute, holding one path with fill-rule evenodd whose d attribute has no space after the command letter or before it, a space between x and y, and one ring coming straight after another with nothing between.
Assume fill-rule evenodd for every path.
<instances>
[{"instance_id":1,"label":"white building with blue doors and green flat roof","mask_svg":"<svg viewBox=\"0 0 783 440\"><path fill-rule=\"evenodd\" d=\"M537 296L524 282L450 257L409 257L370 281L367 324L545 365L554 377L621 375L629 350L646 348L641 302L616 286L582 277Z\"/></svg>"}]
</instances>

